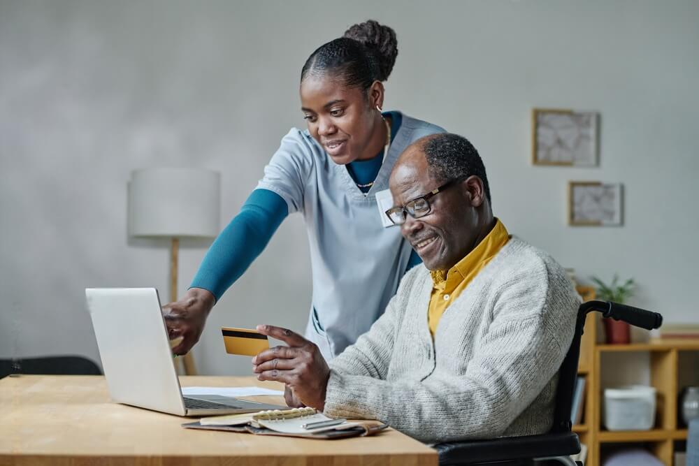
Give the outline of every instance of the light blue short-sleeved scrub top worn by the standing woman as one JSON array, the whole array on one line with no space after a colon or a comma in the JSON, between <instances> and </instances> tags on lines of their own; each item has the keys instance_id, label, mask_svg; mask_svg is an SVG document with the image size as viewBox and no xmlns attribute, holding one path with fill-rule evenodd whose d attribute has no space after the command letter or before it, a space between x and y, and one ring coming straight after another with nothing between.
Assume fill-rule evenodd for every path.
<instances>
[{"instance_id":1,"label":"light blue short-sleeved scrub top worn by the standing woman","mask_svg":"<svg viewBox=\"0 0 699 466\"><path fill-rule=\"evenodd\" d=\"M412 247L397 226L384 228L375 194L388 189L398 156L439 126L403 115L368 193L334 163L308 130L291 129L264 169L258 189L281 196L305 218L312 265L312 305L305 337L329 361L384 312L408 268Z\"/></svg>"}]
</instances>

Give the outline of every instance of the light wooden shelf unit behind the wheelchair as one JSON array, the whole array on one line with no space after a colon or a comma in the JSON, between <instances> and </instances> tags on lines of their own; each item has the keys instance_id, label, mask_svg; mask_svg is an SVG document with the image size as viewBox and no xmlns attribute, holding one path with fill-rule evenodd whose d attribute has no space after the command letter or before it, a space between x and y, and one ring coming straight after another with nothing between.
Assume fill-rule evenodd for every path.
<instances>
[{"instance_id":1,"label":"light wooden shelf unit behind the wheelchair","mask_svg":"<svg viewBox=\"0 0 699 466\"><path fill-rule=\"evenodd\" d=\"M594 299L594 289L579 286L584 300ZM648 343L598 344L600 314L589 314L580 347L579 375L586 377L583 423L573 431L588 447L586 466L600 466L605 444L644 443L663 462L672 465L675 442L686 440L687 430L679 421L679 398L689 385L699 384L699 372L691 370L699 361L699 340L651 340ZM650 384L656 388L656 425L652 430L610 431L603 425L601 373L605 354L647 354ZM689 371L680 370L688 359Z\"/></svg>"}]
</instances>

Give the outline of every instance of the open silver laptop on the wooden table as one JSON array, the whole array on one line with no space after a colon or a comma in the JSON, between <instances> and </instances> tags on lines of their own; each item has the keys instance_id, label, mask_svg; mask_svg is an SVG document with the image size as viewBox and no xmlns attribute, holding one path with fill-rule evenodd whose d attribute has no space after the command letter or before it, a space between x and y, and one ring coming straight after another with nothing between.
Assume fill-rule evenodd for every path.
<instances>
[{"instance_id":1,"label":"open silver laptop on the wooden table","mask_svg":"<svg viewBox=\"0 0 699 466\"><path fill-rule=\"evenodd\" d=\"M178 416L284 409L218 395L182 396L154 288L87 288L87 307L112 399Z\"/></svg>"}]
</instances>

